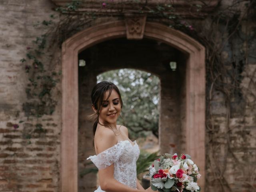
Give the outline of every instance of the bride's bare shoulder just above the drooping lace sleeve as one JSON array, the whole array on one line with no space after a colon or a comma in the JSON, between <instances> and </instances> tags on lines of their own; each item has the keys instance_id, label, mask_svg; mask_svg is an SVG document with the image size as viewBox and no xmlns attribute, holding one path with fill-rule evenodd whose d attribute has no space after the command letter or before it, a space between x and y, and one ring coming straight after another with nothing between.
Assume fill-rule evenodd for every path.
<instances>
[{"instance_id":1,"label":"bride's bare shoulder just above the drooping lace sleeve","mask_svg":"<svg viewBox=\"0 0 256 192\"><path fill-rule=\"evenodd\" d=\"M114 132L110 128L98 126L94 136L94 144L98 154L112 146L117 142Z\"/></svg>"}]
</instances>

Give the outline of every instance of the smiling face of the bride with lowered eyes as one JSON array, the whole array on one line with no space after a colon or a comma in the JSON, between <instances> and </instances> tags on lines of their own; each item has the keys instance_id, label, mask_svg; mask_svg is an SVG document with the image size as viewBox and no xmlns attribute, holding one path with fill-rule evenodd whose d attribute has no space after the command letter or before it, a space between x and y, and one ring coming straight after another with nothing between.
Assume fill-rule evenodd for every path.
<instances>
[{"instance_id":1,"label":"smiling face of the bride with lowered eyes","mask_svg":"<svg viewBox=\"0 0 256 192\"><path fill-rule=\"evenodd\" d=\"M106 91L102 106L100 106L99 120L105 124L116 124L117 118L120 115L121 104L118 93L112 90L110 97L107 99L109 90Z\"/></svg>"}]
</instances>

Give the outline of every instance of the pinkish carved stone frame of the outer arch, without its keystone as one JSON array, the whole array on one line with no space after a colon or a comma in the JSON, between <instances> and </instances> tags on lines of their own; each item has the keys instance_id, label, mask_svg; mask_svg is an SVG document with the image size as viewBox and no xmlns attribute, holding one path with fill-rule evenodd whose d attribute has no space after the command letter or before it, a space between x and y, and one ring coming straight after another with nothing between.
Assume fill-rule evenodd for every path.
<instances>
[{"instance_id":1,"label":"pinkish carved stone frame of the outer arch, without its keystone","mask_svg":"<svg viewBox=\"0 0 256 192\"><path fill-rule=\"evenodd\" d=\"M61 191L78 191L78 53L100 42L126 37L124 21L88 28L62 45ZM144 37L162 41L188 56L186 59L186 152L205 173L205 50L186 34L162 24L146 22ZM196 141L196 142L195 142ZM161 145L161 144L160 144ZM203 177L204 178L204 177ZM204 191L204 179L199 182Z\"/></svg>"}]
</instances>

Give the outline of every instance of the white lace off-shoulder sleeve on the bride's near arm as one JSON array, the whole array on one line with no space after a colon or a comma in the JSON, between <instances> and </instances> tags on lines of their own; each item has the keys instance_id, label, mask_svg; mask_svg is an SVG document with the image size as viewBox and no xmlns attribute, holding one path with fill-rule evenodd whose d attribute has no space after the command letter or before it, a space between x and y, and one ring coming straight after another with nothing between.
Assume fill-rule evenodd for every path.
<instances>
[{"instance_id":1,"label":"white lace off-shoulder sleeve on the bride's near arm","mask_svg":"<svg viewBox=\"0 0 256 192\"><path fill-rule=\"evenodd\" d=\"M107 168L119 159L123 152L121 148L122 146L116 144L98 155L89 156L87 160L90 159L98 169Z\"/></svg>"}]
</instances>

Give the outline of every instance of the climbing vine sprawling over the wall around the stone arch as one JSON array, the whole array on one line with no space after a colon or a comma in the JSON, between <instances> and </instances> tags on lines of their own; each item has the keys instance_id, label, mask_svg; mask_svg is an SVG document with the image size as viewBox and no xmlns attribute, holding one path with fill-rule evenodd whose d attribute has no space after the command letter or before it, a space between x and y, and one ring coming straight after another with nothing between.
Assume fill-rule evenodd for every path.
<instances>
[{"instance_id":1,"label":"climbing vine sprawling over the wall around the stone arch","mask_svg":"<svg viewBox=\"0 0 256 192\"><path fill-rule=\"evenodd\" d=\"M186 7L186 10L189 12L186 14L171 0L166 4L149 4L147 0L106 0L102 1L98 9L90 11L83 11L83 2L74 0L65 7L56 8L57 16L50 15L49 20L40 22L48 31L38 36L32 45L26 48L26 57L20 60L24 64L29 82L25 90L28 100L23 104L26 116L40 119L43 115L54 113L57 101L52 92L60 84L61 70L55 71L54 54L51 53L58 50L62 42L92 26L98 19L120 20L124 14L146 14L147 20L161 22L180 30L206 48L206 160L209 162L207 171L213 175L213 179L207 182L218 186L220 190L232 190L224 176L227 160L232 158L241 166L246 162L241 161L234 153L236 143L232 140L234 128L230 126L230 121L239 116L241 126L246 121L246 110L255 113L256 107L256 68L248 70L249 61L256 58L249 48L256 43L255 33L248 33L246 25L242 26L243 22L255 22L256 1L236 0L225 8L219 3L216 11L208 13L207 16L205 10L208 9L208 4L204 1L187 0L187 4L189 8ZM244 8L239 9L241 6ZM240 51L236 47L238 44L244 44ZM243 84L245 79L247 86ZM220 116L213 113L214 97L217 93L224 98L224 130L220 130L218 124ZM18 124L14 126L19 127ZM241 134L246 134L244 127L240 130ZM34 131L46 133L42 124L38 123L35 129L24 137L30 139ZM244 141L242 144L248 143ZM225 153L222 160L214 158L223 146ZM245 174L246 170L242 170ZM252 180L246 182L251 190L255 190L255 177L254 174Z\"/></svg>"}]
</instances>

